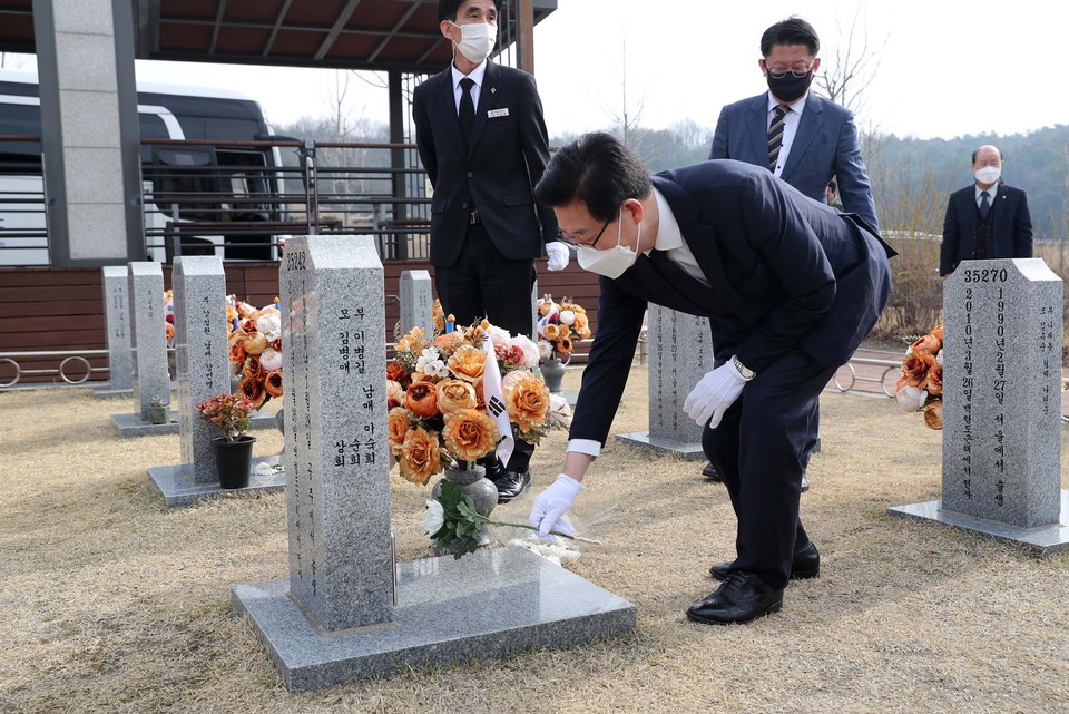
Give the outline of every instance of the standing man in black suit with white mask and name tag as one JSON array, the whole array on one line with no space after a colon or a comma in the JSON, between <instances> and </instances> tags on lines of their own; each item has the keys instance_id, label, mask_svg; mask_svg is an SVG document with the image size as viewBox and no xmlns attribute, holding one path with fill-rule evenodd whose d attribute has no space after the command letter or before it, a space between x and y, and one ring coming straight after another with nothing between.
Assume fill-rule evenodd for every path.
<instances>
[{"instance_id":1,"label":"standing man in black suit with white mask and name tag","mask_svg":"<svg viewBox=\"0 0 1069 714\"><path fill-rule=\"evenodd\" d=\"M415 141L434 188L431 265L442 307L457 324L487 317L531 336L534 260L545 246L549 270L568 265L556 243L553 212L534 202L549 160L534 78L490 62L501 0L439 0L442 35L453 61L415 88ZM500 502L530 483L531 449L518 442L507 468L488 463Z\"/></svg>"}]
</instances>

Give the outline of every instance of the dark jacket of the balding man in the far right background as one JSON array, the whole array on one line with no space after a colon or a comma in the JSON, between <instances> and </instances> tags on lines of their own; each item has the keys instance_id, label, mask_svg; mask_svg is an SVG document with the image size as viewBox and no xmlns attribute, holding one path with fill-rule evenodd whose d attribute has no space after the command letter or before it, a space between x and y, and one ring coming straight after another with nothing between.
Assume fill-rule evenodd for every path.
<instances>
[{"instance_id":1,"label":"dark jacket of the balding man in the far right background","mask_svg":"<svg viewBox=\"0 0 1069 714\"><path fill-rule=\"evenodd\" d=\"M991 209L994 211L993 257L1032 257L1032 218L1024 192L1000 180ZM950 195L939 251L940 275L952 273L961 261L972 260L977 250L978 214L975 184Z\"/></svg>"}]
</instances>

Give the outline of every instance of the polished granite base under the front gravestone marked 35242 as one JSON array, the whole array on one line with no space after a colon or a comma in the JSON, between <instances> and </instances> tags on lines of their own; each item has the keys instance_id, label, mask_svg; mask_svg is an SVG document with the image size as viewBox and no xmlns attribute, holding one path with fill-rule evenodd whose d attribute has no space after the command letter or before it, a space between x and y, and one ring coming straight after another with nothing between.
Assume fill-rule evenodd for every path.
<instances>
[{"instance_id":1,"label":"polished granite base under the front gravestone marked 35242","mask_svg":"<svg viewBox=\"0 0 1069 714\"><path fill-rule=\"evenodd\" d=\"M501 659L635 628L627 600L523 548L400 563L393 622L344 633L316 628L288 580L232 588L286 688L389 676L404 667Z\"/></svg>"}]
</instances>

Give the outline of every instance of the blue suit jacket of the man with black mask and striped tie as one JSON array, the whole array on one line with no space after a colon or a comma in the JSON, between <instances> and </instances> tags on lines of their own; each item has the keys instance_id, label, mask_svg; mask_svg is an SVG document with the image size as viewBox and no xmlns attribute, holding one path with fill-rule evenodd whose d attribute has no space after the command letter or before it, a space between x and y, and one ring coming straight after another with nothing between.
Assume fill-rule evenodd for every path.
<instances>
[{"instance_id":1,"label":"blue suit jacket of the man with black mask and striped tie","mask_svg":"<svg viewBox=\"0 0 1069 714\"><path fill-rule=\"evenodd\" d=\"M729 104L720 110L709 158L734 158L768 166L768 92ZM832 176L838 179L844 211L857 214L879 232L854 115L811 91L779 178L810 198L825 203Z\"/></svg>"}]
</instances>

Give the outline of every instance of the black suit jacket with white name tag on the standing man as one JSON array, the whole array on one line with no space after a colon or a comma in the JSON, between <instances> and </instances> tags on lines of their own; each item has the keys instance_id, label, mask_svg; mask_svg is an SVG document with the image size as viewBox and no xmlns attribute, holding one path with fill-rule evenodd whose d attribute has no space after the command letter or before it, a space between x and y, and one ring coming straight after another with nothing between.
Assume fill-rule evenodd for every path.
<instances>
[{"instance_id":1,"label":"black suit jacket with white name tag on the standing man","mask_svg":"<svg viewBox=\"0 0 1069 714\"><path fill-rule=\"evenodd\" d=\"M539 257L543 244L556 239L557 219L551 209L536 207L533 196L549 162L534 78L487 63L472 146L467 151L450 68L415 88L412 115L420 159L434 187L431 264L448 267L457 261L472 206L502 255Z\"/></svg>"}]
</instances>

